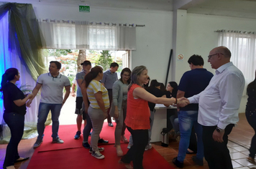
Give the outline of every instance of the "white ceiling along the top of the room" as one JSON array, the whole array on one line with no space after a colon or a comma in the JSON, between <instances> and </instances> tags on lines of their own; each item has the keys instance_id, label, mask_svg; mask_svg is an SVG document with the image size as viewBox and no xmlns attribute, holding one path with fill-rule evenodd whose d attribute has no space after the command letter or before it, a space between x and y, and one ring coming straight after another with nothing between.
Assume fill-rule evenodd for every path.
<instances>
[{"instance_id":1,"label":"white ceiling along the top of the room","mask_svg":"<svg viewBox=\"0 0 256 169\"><path fill-rule=\"evenodd\" d=\"M173 11L173 6L186 9L188 13L234 16L256 19L256 0L0 0L18 3L42 4L89 4L119 9L143 9ZM181 4L181 5L180 5Z\"/></svg>"}]
</instances>

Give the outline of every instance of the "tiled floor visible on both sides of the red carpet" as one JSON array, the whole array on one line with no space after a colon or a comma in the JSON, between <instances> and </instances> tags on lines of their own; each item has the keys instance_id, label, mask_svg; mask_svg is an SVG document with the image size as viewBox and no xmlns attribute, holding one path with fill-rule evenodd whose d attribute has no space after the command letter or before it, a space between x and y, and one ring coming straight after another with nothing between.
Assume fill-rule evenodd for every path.
<instances>
[{"instance_id":1,"label":"tiled floor visible on both sides of the red carpet","mask_svg":"<svg viewBox=\"0 0 256 169\"><path fill-rule=\"evenodd\" d=\"M252 165L247 162L246 158L249 154L248 148L250 147L250 140L252 135L254 135L254 131L252 127L247 123L246 117L244 113L239 114L239 122L237 127L234 127L231 134L229 135L229 151L232 158L232 164L234 168L239 169L249 169L255 168L256 165ZM156 125L156 124L155 124ZM234 142L234 143L233 143ZM35 143L35 138L29 140L22 140L19 143L19 154L22 157L32 157L34 153L34 149L32 145ZM163 158L173 165L171 162L173 158L175 158L178 154L178 143L175 140L170 140L168 148L164 148L160 146L160 143L154 143L152 146L157 150L158 153L163 155ZM4 155L5 155L6 145L0 145L0 168L3 164ZM204 162L204 166L198 166L193 163L191 160L192 155L187 155L184 160L184 168L185 169L209 169L207 162ZM15 168L25 169L29 164L29 160L23 163L17 163ZM173 165L174 166L174 165ZM146 169L146 168L145 168Z\"/></svg>"}]
</instances>

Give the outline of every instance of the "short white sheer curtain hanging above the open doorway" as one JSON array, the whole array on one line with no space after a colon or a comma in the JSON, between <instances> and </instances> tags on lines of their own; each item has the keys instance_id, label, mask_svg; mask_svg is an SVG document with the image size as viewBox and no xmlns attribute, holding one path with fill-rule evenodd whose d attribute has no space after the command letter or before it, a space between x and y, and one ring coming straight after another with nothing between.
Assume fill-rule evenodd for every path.
<instances>
[{"instance_id":1,"label":"short white sheer curtain hanging above the open doorway","mask_svg":"<svg viewBox=\"0 0 256 169\"><path fill-rule=\"evenodd\" d=\"M117 25L117 26L116 26ZM135 50L136 28L88 21L40 19L46 47L52 49Z\"/></svg>"}]
</instances>

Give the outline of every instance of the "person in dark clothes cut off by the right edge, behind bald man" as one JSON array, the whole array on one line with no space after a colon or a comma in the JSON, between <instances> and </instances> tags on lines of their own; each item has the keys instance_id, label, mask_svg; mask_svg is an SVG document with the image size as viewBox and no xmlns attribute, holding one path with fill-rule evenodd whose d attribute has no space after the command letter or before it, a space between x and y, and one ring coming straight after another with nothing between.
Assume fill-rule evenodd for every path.
<instances>
[{"instance_id":1,"label":"person in dark clothes cut off by the right edge, behind bald man","mask_svg":"<svg viewBox=\"0 0 256 169\"><path fill-rule=\"evenodd\" d=\"M256 76L256 71L255 71ZM250 82L247 86L247 105L245 110L245 115L247 117L247 121L252 126L253 130L256 133L256 77L255 80ZM256 154L256 135L252 137L252 143L250 147L250 155L247 160L250 163L255 164L255 154Z\"/></svg>"}]
</instances>

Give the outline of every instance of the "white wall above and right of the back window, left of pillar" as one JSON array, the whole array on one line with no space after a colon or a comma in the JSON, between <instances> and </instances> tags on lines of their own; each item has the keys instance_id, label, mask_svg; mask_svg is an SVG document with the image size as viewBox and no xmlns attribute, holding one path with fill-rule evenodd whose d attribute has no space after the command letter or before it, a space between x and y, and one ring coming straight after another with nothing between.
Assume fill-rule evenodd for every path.
<instances>
[{"instance_id":1,"label":"white wall above and right of the back window, left of pillar","mask_svg":"<svg viewBox=\"0 0 256 169\"><path fill-rule=\"evenodd\" d=\"M106 9L91 6L91 12L79 12L78 6L33 4L38 18L111 23L145 24L137 27L137 50L132 51L132 68L145 65L151 79L165 82L172 48L173 13L132 9Z\"/></svg>"}]
</instances>

